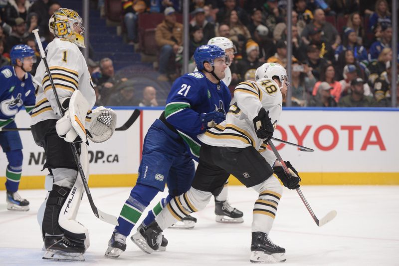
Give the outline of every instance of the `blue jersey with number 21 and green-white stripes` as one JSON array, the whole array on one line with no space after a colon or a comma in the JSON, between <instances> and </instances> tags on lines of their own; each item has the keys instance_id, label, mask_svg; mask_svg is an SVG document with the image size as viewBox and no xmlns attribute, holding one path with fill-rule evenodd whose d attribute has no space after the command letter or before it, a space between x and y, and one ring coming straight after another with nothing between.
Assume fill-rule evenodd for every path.
<instances>
[{"instance_id":1,"label":"blue jersey with number 21 and green-white stripes","mask_svg":"<svg viewBox=\"0 0 399 266\"><path fill-rule=\"evenodd\" d=\"M231 101L230 91L221 81L214 84L201 72L181 76L172 85L165 108L165 118L185 141L188 152L198 161L201 142L200 114L222 111L226 114Z\"/></svg>"}]
</instances>

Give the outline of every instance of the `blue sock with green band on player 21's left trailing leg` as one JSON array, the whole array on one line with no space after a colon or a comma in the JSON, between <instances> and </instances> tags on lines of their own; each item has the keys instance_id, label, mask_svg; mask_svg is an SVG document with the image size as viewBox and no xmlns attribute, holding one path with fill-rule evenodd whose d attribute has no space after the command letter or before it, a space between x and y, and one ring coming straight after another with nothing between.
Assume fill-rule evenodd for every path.
<instances>
[{"instance_id":1,"label":"blue sock with green band on player 21's left trailing leg","mask_svg":"<svg viewBox=\"0 0 399 266\"><path fill-rule=\"evenodd\" d=\"M119 226L116 226L115 230L124 236L129 236L144 209L147 208L158 192L157 188L136 184L130 192L129 199L122 207L118 218Z\"/></svg>"}]
</instances>

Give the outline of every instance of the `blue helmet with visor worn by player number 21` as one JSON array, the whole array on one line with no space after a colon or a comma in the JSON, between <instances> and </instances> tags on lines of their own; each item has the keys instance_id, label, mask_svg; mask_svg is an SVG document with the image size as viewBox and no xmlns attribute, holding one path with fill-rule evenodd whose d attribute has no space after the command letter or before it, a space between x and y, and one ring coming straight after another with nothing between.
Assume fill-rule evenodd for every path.
<instances>
[{"instance_id":1,"label":"blue helmet with visor worn by player number 21","mask_svg":"<svg viewBox=\"0 0 399 266\"><path fill-rule=\"evenodd\" d=\"M213 66L213 60L216 58L223 58L226 64L229 65L229 57L225 56L224 50L216 45L201 45L197 47L194 52L194 60L196 61L199 71L203 70L203 63L208 62Z\"/></svg>"}]
</instances>

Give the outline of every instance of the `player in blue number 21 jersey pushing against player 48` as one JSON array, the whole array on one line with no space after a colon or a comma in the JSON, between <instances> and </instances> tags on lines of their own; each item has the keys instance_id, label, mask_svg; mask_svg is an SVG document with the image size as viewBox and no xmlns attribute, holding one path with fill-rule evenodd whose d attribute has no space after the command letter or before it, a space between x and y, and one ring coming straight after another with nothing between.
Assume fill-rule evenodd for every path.
<instances>
[{"instance_id":1,"label":"player in blue number 21 jersey pushing against player 48","mask_svg":"<svg viewBox=\"0 0 399 266\"><path fill-rule=\"evenodd\" d=\"M119 226L108 242L107 257L117 258L126 250L126 237L165 184L169 195L151 211L154 213L144 220L144 226L170 199L190 188L195 174L192 159L198 161L200 152L197 135L225 118L231 95L220 80L229 65L228 56L218 46L202 45L196 49L194 59L200 71L185 74L174 82L165 111L147 132L137 183L122 207ZM161 250L166 245L163 238Z\"/></svg>"}]
</instances>

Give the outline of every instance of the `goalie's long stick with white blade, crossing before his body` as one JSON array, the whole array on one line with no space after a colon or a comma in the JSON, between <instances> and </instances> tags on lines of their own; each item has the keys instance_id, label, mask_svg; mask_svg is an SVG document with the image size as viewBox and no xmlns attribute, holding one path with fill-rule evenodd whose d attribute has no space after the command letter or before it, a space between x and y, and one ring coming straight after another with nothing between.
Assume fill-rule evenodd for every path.
<instances>
[{"instance_id":1,"label":"goalie's long stick with white blade, crossing before his body","mask_svg":"<svg viewBox=\"0 0 399 266\"><path fill-rule=\"evenodd\" d=\"M54 91L55 100L57 101L57 105L58 105L58 108L59 108L59 110L61 112L61 115L64 116L64 111L63 111L63 109L61 107L61 103L60 103L60 101L58 99L57 90L55 89L54 81L53 81L53 78L51 76L48 64L47 64L46 55L44 53L43 46L41 45L38 31L39 31L38 29L32 30L34 36L36 37L36 42L37 42L37 45L39 46L40 55L41 55L41 58L42 58L42 60L44 62L44 66L46 67L46 71L47 71L48 77L50 79L51 87L52 87L52 89ZM80 177L82 178L83 187L84 187L84 189L86 191L87 198L89 199L89 203L90 203L91 209L93 210L94 215L98 219L100 219L100 220L102 220L102 221L104 221L106 223L109 223L109 224L112 224L112 225L116 225L116 226L119 225L118 219L115 216L110 215L110 214L106 214L106 213L100 211L94 205L93 198L91 197L89 185L87 184L87 180L86 180L86 177L85 177L84 172L83 172L82 164L80 163L80 160L79 160L79 154L78 154L78 151L76 149L75 143L71 142L70 145L71 145L71 148L72 148L72 151L73 151L73 158L75 159L76 166L78 167L78 171L79 171Z\"/></svg>"}]
</instances>

